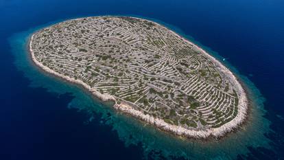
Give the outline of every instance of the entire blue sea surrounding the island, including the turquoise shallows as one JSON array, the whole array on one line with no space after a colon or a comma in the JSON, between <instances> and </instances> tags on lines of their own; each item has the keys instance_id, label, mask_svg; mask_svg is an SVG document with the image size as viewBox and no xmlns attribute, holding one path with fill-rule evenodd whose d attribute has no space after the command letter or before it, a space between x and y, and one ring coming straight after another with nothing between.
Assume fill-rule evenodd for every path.
<instances>
[{"instance_id":1,"label":"entire blue sea surrounding the island, including the turquoise shallows","mask_svg":"<svg viewBox=\"0 0 284 160\"><path fill-rule=\"evenodd\" d=\"M284 1L0 0L0 159L284 159ZM43 73L29 36L83 16L156 21L222 60L250 118L219 141L174 137Z\"/></svg>"}]
</instances>

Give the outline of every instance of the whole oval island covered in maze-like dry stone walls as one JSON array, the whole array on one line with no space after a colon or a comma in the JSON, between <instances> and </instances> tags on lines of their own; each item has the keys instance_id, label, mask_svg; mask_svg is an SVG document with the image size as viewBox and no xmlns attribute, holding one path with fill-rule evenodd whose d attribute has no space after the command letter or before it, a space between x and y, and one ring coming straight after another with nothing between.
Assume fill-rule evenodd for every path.
<instances>
[{"instance_id":1,"label":"whole oval island covered in maze-like dry stone walls","mask_svg":"<svg viewBox=\"0 0 284 160\"><path fill-rule=\"evenodd\" d=\"M202 48L154 21L93 16L32 34L36 66L113 108L182 137L220 138L246 121L236 76Z\"/></svg>"}]
</instances>

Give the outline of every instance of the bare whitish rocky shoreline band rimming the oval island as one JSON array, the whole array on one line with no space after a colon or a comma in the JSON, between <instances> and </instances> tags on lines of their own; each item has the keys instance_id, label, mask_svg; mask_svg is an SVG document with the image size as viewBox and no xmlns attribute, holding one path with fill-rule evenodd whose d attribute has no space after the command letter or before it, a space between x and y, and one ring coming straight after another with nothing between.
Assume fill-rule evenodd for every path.
<instances>
[{"instance_id":1,"label":"bare whitish rocky shoreline band rimming the oval island","mask_svg":"<svg viewBox=\"0 0 284 160\"><path fill-rule=\"evenodd\" d=\"M159 25L156 23L156 25ZM171 31L172 32L172 31ZM175 32L172 32L173 34L176 34ZM176 34L177 35L177 34ZM52 75L58 76L64 80L67 80L69 82L73 82L75 84L80 84L82 85L85 89L90 91L95 97L99 98L100 100L106 102L106 101L116 101L115 97L112 95L108 94L102 94L99 93L99 91L96 91L94 88L91 88L88 84L85 84L82 82L82 80L75 80L74 78L69 78L68 76L64 76L61 73L58 73L52 69L49 69L49 67L46 67L42 63L38 62L36 60L36 57L34 56L34 52L32 49L32 41L33 41L34 35L31 36L30 41L29 41L29 53L32 57L32 61L41 69L46 71L47 73L51 73ZM180 36L179 36L180 37ZM182 37L180 37L182 38ZM206 55L208 58L210 58L215 65L222 70L223 73L226 73L226 78L230 80L230 83L235 86L237 89L237 95L239 98L239 106L238 106L238 112L237 116L231 120L230 122L220 126L219 128L209 128L209 129L204 129L204 130L191 130L187 128L182 128L181 126L176 126L172 124L166 123L163 119L158 119L154 118L150 115L144 114L142 111L138 111L134 109L132 106L129 104L126 104L124 102L121 102L121 104L118 104L117 102L114 105L114 108L122 111L123 113L128 113L134 117L137 117L138 119L143 120L144 122L147 122L149 124L152 124L154 126L157 126L158 128L161 128L161 130L169 131L171 133L174 133L175 135L180 135L184 137L191 137L191 138L196 138L196 139L206 139L208 137L222 137L226 133L229 133L235 128L238 128L239 125L241 125L244 120L246 119L247 111L248 111L248 100L247 100L247 95L246 92L244 91L243 87L241 84L238 82L237 78L234 76L234 74L229 71L224 65L222 65L221 62L216 60L213 56L209 55L206 53L203 49L198 47L197 45L194 45L193 43L187 41L185 38L182 38L183 41L186 41L187 43L190 43L193 45L198 52L202 52L204 55Z\"/></svg>"}]
</instances>

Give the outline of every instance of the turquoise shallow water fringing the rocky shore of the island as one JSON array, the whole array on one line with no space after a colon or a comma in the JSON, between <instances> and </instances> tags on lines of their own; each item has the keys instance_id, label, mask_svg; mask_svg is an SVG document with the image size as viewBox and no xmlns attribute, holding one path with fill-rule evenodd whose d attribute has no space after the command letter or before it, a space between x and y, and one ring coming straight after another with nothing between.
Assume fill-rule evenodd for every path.
<instances>
[{"instance_id":1,"label":"turquoise shallow water fringing the rocky shore of the island","mask_svg":"<svg viewBox=\"0 0 284 160\"><path fill-rule=\"evenodd\" d=\"M194 41L191 36L182 33L178 27L168 25L156 19L150 20L161 23L171 30L178 32L178 34L188 38L213 56L222 60L222 57L216 52L200 45L200 43ZM56 22L51 22L47 25ZM237 69L232 67L228 62L225 61L225 65L244 82L244 86L247 88L252 102L248 123L246 123L241 130L236 133L230 133L220 141L202 142L174 137L160 130L156 130L153 126L139 122L128 115L114 111L110 106L106 106L91 98L91 95L80 89L80 87L76 87L73 84L69 84L68 82L64 82L39 71L29 60L27 43L29 36L34 31L47 25L32 28L27 32L14 34L10 38L10 46L12 47L12 53L15 58L15 65L20 71L23 71L25 77L31 80L30 87L43 87L50 93L56 95L71 93L74 98L69 102L69 108L77 108L78 111L88 113L88 118L85 121L86 125L92 123L92 120L95 118L93 116L99 116L99 119L101 119L100 123L110 126L111 130L113 130L112 132L117 133L117 136L123 141L125 146L142 146L143 157L185 159L208 159L208 157L210 157L211 159L235 159L237 155L246 155L250 152L247 148L248 146L252 148L264 147L271 149L270 140L264 135L270 132L270 122L263 117L263 115L265 115L263 108L265 99L255 85L245 76L241 76Z\"/></svg>"}]
</instances>

